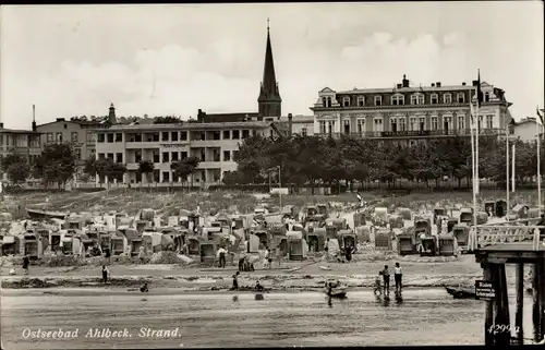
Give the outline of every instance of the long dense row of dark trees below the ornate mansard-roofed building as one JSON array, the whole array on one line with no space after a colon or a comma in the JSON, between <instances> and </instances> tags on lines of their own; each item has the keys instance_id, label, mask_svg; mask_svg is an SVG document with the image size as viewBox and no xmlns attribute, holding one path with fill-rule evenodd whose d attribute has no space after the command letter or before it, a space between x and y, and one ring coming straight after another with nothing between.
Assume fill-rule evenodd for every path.
<instances>
[{"instance_id":1,"label":"long dense row of dark trees below the ornate mansard-roofed building","mask_svg":"<svg viewBox=\"0 0 545 350\"><path fill-rule=\"evenodd\" d=\"M505 140L483 136L479 143L480 178L505 183ZM529 182L537 172L536 145L521 141L511 141L510 145L513 143L514 176L518 183ZM545 155L543 143L541 152ZM400 180L429 185L448 178L456 179L461 188L462 184L469 186L472 178L469 137L419 140L407 145L351 136L271 138L257 135L242 143L234 160L239 164L238 170L223 177L228 185L278 183L279 180L295 188L334 186L341 182L353 188L354 182L368 181L392 186ZM541 166L543 174L545 161ZM277 171L271 171L278 167L281 179Z\"/></svg>"}]
</instances>

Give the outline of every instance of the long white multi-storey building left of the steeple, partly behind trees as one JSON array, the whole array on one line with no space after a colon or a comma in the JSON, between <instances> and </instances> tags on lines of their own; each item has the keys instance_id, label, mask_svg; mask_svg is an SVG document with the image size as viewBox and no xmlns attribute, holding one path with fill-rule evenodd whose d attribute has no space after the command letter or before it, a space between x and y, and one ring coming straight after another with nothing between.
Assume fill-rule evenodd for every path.
<instances>
[{"instance_id":1,"label":"long white multi-storey building left of the steeple, partly behind trees","mask_svg":"<svg viewBox=\"0 0 545 350\"><path fill-rule=\"evenodd\" d=\"M110 158L126 165L125 183L147 183L138 171L141 161L154 162L153 182L175 183L172 162L197 157L198 168L189 181L194 185L219 183L226 171L237 170L234 153L239 143L251 135L270 136L270 122L246 121L226 123L185 122L180 124L113 125L96 130L97 158Z\"/></svg>"}]
</instances>

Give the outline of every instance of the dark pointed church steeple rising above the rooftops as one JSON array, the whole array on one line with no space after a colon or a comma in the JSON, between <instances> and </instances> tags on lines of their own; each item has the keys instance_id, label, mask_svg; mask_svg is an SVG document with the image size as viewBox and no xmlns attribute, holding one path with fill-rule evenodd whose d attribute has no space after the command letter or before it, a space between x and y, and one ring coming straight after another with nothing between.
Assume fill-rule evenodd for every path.
<instances>
[{"instance_id":1,"label":"dark pointed church steeple rising above the rooftops","mask_svg":"<svg viewBox=\"0 0 545 350\"><path fill-rule=\"evenodd\" d=\"M270 46L269 20L267 19L267 49L265 51L265 68L257 104L259 117L277 117L282 114L282 98L278 90L275 74L275 61L272 60L272 48Z\"/></svg>"}]
</instances>

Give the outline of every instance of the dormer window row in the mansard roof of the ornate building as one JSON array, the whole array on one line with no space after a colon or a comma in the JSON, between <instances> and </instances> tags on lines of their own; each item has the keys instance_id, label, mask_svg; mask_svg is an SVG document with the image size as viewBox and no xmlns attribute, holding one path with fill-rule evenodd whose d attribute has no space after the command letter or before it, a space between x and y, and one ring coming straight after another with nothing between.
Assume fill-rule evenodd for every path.
<instances>
[{"instance_id":1,"label":"dormer window row in the mansard roof of the ornate building","mask_svg":"<svg viewBox=\"0 0 545 350\"><path fill-rule=\"evenodd\" d=\"M484 101L487 102L489 101L489 93L484 94ZM396 94L390 97L390 105L392 106L403 106L405 105L405 97L401 94ZM375 96L374 98L374 106L383 106L383 96ZM443 102L446 105L452 104L452 94L447 93L443 95ZM458 104L464 104L465 102L465 94L464 93L458 93L456 95L456 102ZM414 94L411 96L411 105L424 105L425 104L425 96L423 94ZM438 105L439 104L439 95L438 94L432 94L429 96L429 104L431 105ZM322 106L323 107L331 107L331 97L323 97L322 98ZM356 107L364 107L365 106L365 96L358 96L356 100ZM351 107L351 98L350 96L344 96L342 98L342 107Z\"/></svg>"}]
</instances>

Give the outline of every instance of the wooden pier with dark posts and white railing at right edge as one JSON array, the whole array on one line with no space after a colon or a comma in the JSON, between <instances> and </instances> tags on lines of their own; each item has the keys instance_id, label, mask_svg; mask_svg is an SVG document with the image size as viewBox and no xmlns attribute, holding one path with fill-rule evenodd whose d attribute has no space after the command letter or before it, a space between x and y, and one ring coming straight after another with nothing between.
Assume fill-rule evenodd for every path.
<instances>
[{"instance_id":1,"label":"wooden pier with dark posts and white railing at right edge","mask_svg":"<svg viewBox=\"0 0 545 350\"><path fill-rule=\"evenodd\" d=\"M470 251L483 268L483 286L491 287L483 293L486 301L485 345L523 345L530 338L523 329L524 270L532 270L532 321L533 340L540 342L545 336L545 237L540 237L543 226L537 220L519 220L494 225L473 226L470 232ZM506 264L516 265L516 314L514 324L509 314ZM529 270L530 270L529 269ZM477 288L477 297L480 290Z\"/></svg>"}]
</instances>

